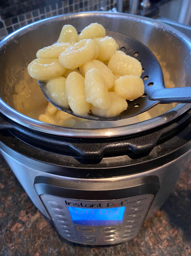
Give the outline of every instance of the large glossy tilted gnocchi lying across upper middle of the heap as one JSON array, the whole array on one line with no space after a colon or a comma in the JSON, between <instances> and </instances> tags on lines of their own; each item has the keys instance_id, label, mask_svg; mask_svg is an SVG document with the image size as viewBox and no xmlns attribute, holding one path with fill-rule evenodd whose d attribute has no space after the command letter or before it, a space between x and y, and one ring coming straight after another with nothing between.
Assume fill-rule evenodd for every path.
<instances>
[{"instance_id":1,"label":"large glossy tilted gnocchi lying across upper middle of the heap","mask_svg":"<svg viewBox=\"0 0 191 256\"><path fill-rule=\"evenodd\" d=\"M75 69L90 61L95 50L95 42L92 39L84 39L63 51L58 59L63 67Z\"/></svg>"}]
</instances>

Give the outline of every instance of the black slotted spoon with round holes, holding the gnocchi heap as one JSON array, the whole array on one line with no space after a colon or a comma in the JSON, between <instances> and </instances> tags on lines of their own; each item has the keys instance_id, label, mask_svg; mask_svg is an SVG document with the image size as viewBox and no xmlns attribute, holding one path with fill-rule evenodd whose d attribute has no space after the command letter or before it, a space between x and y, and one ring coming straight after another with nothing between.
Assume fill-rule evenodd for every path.
<instances>
[{"instance_id":1,"label":"black slotted spoon with round holes, holding the gnocchi heap","mask_svg":"<svg viewBox=\"0 0 191 256\"><path fill-rule=\"evenodd\" d=\"M116 40L120 50L141 62L143 68L141 78L143 79L145 86L143 96L133 101L128 100L128 108L115 117L95 116L92 113L79 116L70 108L62 108L51 101L48 98L46 91L47 82L38 81L38 84L47 100L50 101L57 109L84 119L117 121L139 115L159 103L191 103L191 87L165 88L161 66L155 55L144 44L135 38L109 30L106 30L106 35L111 36Z\"/></svg>"}]
</instances>

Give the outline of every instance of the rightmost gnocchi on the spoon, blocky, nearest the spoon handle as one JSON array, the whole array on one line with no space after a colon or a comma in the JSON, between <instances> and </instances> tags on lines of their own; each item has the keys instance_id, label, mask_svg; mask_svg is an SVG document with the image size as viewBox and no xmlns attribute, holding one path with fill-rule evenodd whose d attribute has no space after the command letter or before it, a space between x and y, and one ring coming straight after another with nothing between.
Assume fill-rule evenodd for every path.
<instances>
[{"instance_id":1,"label":"rightmost gnocchi on the spoon, blocky, nearest the spoon handle","mask_svg":"<svg viewBox=\"0 0 191 256\"><path fill-rule=\"evenodd\" d=\"M135 100L141 97L144 93L144 83L137 76L122 76L114 82L114 90L117 95L126 100Z\"/></svg>"}]
</instances>

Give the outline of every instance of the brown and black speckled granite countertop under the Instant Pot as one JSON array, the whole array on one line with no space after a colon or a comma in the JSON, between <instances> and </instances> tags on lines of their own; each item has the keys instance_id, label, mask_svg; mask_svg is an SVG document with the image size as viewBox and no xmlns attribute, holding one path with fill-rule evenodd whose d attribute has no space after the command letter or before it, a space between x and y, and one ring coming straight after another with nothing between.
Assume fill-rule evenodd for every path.
<instances>
[{"instance_id":1,"label":"brown and black speckled granite countertop under the Instant Pot","mask_svg":"<svg viewBox=\"0 0 191 256\"><path fill-rule=\"evenodd\" d=\"M138 237L113 246L82 246L60 240L0 156L1 256L188 256L191 255L191 171L179 178L161 211Z\"/></svg>"}]
</instances>

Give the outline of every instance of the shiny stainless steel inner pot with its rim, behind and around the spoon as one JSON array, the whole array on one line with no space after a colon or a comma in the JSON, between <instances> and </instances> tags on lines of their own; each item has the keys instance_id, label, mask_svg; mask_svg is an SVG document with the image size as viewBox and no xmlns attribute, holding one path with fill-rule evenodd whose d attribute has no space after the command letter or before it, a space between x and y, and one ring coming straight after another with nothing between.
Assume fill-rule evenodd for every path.
<instances>
[{"instance_id":1,"label":"shiny stainless steel inner pot with its rim, behind and around the spoon","mask_svg":"<svg viewBox=\"0 0 191 256\"><path fill-rule=\"evenodd\" d=\"M166 87L190 85L191 41L174 28L149 18L129 14L69 14L33 23L1 41L0 111L19 124L49 134L112 137L158 127L190 108L191 104L160 104L133 118L115 122L77 122L76 127L63 127L38 121L38 115L44 113L48 102L36 80L29 76L28 64L35 58L38 49L51 45L58 39L63 25L71 24L80 31L95 22L108 30L132 36L151 49L163 69ZM147 81L149 83L149 78ZM20 89L22 93L18 95Z\"/></svg>"}]
</instances>

